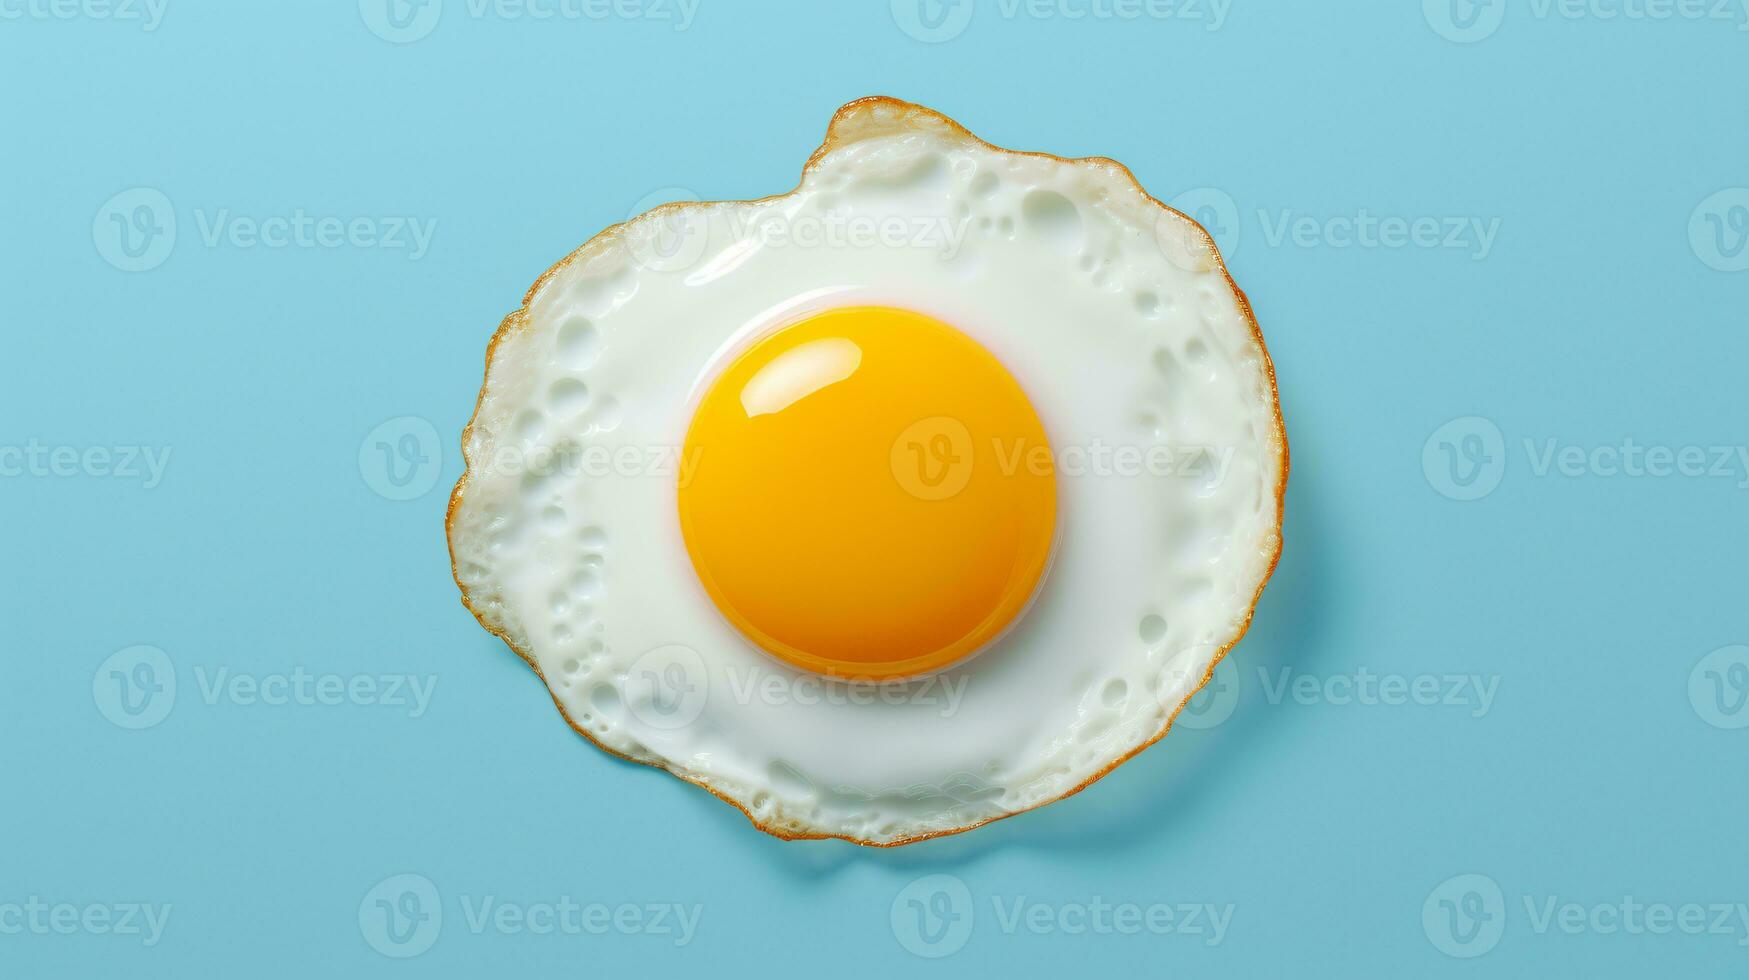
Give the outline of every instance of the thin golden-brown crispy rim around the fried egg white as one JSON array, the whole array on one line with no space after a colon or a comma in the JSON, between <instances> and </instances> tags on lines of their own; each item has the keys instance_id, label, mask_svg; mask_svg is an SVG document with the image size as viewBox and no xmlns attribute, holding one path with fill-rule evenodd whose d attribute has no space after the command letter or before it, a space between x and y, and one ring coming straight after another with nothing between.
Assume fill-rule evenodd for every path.
<instances>
[{"instance_id":1,"label":"thin golden-brown crispy rim around the fried egg white","mask_svg":"<svg viewBox=\"0 0 1749 980\"><path fill-rule=\"evenodd\" d=\"M861 840L861 838L855 838L855 836L847 836L847 835L838 835L838 833L791 833L787 830L759 822L752 816L752 812L747 807L743 807L738 800L731 800L729 796L726 796L726 794L712 789L710 786L707 786L703 780L698 780L698 779L693 779L693 777L689 777L686 774L680 774L680 772L677 772L670 765L665 765L661 761L638 760L638 758L628 756L624 752L619 752L616 749L610 749L610 747L603 746L598 738L595 738L593 735L589 735L588 732L584 732L582 726L579 726L570 718L570 712L565 710L563 702L560 702L558 695L553 693L553 684L547 682L546 674L540 672L540 665L535 662L535 658L530 656L521 648L518 648L514 642L511 642L511 639L504 634L504 630L500 630L500 628L486 623L486 618L479 612L479 609L474 607L472 597L469 597L467 586L462 584L462 576L460 576L460 570L456 569L456 560L455 560L455 511L462 504L462 497L467 494L467 467L470 467L472 462L474 462L469 457L469 453L467 453L469 436L472 434L472 430L474 430L474 420L479 416L479 410L481 410L481 406L486 401L486 383L484 382L481 382L479 397L474 401L474 415L469 416L467 427L462 429L462 458L463 458L465 466L463 466L463 471L462 471L462 478L455 485L455 492L449 495L449 506L444 511L444 537L448 539L448 544L449 544L449 574L451 574L451 578L455 578L456 588L462 590L462 606L465 606L467 611L474 614L474 620L479 621L481 628L484 628L488 634L493 634L495 637L502 639L504 644L509 646L512 653L516 653L516 656L523 658L523 662L528 663L530 668L533 668L535 676L540 677L540 682L547 686L547 695L553 696L553 705L558 707L558 712L560 712L560 716L565 718L565 723L570 724L570 728L574 732L577 732L579 735L582 735L584 738L588 738L591 744L595 744L596 749L602 749L603 752L607 752L610 756L617 756L617 758L631 761L631 763L638 763L638 765L647 765L647 766L652 766L652 768L659 768L659 770L668 772L670 775L673 775L673 777L677 777L680 780L691 782L693 786L698 786L700 789L710 793L717 800L722 800L724 803L728 803L728 805L735 807L736 810L740 810L742 816L745 816L747 821L752 822L756 828L763 830L764 833L770 833L771 836L782 838L782 840L827 840L827 838L838 838L838 840L848 840L852 844L861 844L864 847L902 847L906 844L916 844L916 842L922 842L922 840L930 840L930 838L937 838L937 836L950 836L950 835L955 835L955 833L965 833L969 830L978 830L978 828L981 828L985 824L990 824L990 822L995 822L995 821L1004 821L1007 817L1013 817L1013 816L1018 816L1018 814L1025 814L1028 810L1035 810L1035 808L1049 805L1049 803L1056 803L1058 800L1067 800L1069 796L1074 796L1076 793L1081 793L1088 786L1093 786L1095 782L1098 782L1100 779L1104 779L1107 774L1111 774L1114 768L1118 768L1123 763L1133 760L1135 756L1139 756L1142 752L1142 749L1147 749L1154 742L1165 738L1168 732L1172 732L1172 724L1177 721L1179 712L1184 710L1184 705L1188 705L1191 702L1191 698L1195 698L1209 684L1209 681L1214 679L1216 667L1219 667L1221 660L1224 660L1226 654L1231 653L1231 649L1238 644L1238 640L1244 639L1245 634L1251 630L1251 620L1252 620L1252 616L1256 616L1258 602L1263 598L1263 588L1270 583L1270 578L1275 574L1275 567L1280 564L1280 558L1282 558L1282 518L1286 516L1286 508L1287 508L1287 466L1289 466L1289 455L1287 455L1287 427L1282 422L1282 399L1280 399L1280 392L1279 392L1277 383L1275 383L1275 360L1270 359L1270 350L1263 343L1263 331L1258 327L1258 317L1251 310L1251 299L1247 299L1245 292L1242 289L1238 289L1238 284L1233 282L1233 275L1228 271L1226 261L1221 259L1221 250L1216 247L1214 236L1210 236L1209 231L1202 224L1196 222L1196 219L1189 217L1188 214L1184 214L1184 212L1181 212L1181 210L1167 205L1165 201L1160 201L1153 194L1149 194L1142 187L1140 180L1137 180L1135 175L1130 173L1130 168L1126 168L1125 164L1121 164L1121 163L1118 163L1114 159L1109 159L1109 158L1077 158L1077 159L1070 159L1070 158L1060 158L1060 156L1046 154L1046 152L1009 150L1009 149L988 144L985 140L979 140L969 130L965 130L964 126L960 126L953 119L948 119L946 116L936 112L934 108L927 108L927 107L922 107L922 105L916 105L916 103L909 103L909 102L902 102L902 100L897 100L897 98L888 98L888 96L859 98L855 102L845 103L838 112L834 112L833 114L833 121L826 128L826 140L820 144L820 147L817 150L813 150L812 156L808 156L808 163L801 168L803 178L806 178L806 175L819 164L819 161L820 161L822 156L826 156L834 147L838 147L841 142L845 142L847 136L848 138L861 138L861 135L857 135L857 133L847 133L847 130L848 130L850 122L857 122L859 121L861 114L864 114L868 110L874 110L874 108L895 110L904 119L923 121L923 122L932 124L932 126L946 128L948 131L955 133L957 136L971 140L971 142L974 142L974 144L978 144L981 147L992 149L992 150L1014 152L1014 154L1020 154L1020 156L1034 156L1034 158L1051 159L1051 161L1056 161L1056 163L1070 163L1070 164L1083 164L1083 166L1084 164L1097 164L1097 166L1111 166L1111 168L1114 168L1118 173L1121 173L1123 177L1126 177L1130 180L1130 184L1133 184L1135 189L1140 191L1144 198L1147 198L1149 203L1153 203L1154 206L1158 206L1158 208L1161 208L1165 212L1179 215L1181 219L1191 222L1191 226L1196 228L1196 231L1202 233L1203 240L1209 245L1209 254L1214 257L1216 268L1221 270L1221 278L1224 278L1228 289L1233 290L1235 299L1238 299L1238 308L1245 315L1245 322L1251 324L1251 338L1252 338L1252 341L1256 341L1258 352L1263 355L1263 373L1265 373L1265 378L1268 380L1270 402L1272 402L1272 408L1275 411L1275 448L1277 448L1277 453L1280 457L1280 480L1275 485L1275 551L1270 555L1270 564L1263 570L1263 578L1258 581L1258 593L1251 598L1251 606L1245 609L1245 620L1244 620L1244 623L1240 623L1238 630L1233 634L1233 639L1230 639L1214 654L1214 660L1209 662L1209 670L1203 672L1202 681L1198 681L1196 688L1189 695L1186 695L1186 698L1182 702L1179 702L1179 707L1174 709L1172 714L1167 718L1167 723L1165 723L1165 726L1160 728L1160 733L1156 733L1153 738L1142 742L1140 746L1135 746L1133 749L1130 749L1128 752L1125 752L1123 756L1119 756L1118 760L1114 760L1105 768L1102 768L1097 774L1090 775L1079 786L1074 786L1072 789L1067 789L1065 793L1062 793L1058 796L1053 796L1053 798L1044 800L1041 803L1034 803L1032 807L1027 807L1027 808L1021 808L1021 810L1013 810L1009 814L1000 814L1000 816L995 816L995 817L988 817L988 819L978 821L974 824L965 824L965 826L950 828L950 830L937 830L937 831L920 833L920 835L913 835L913 836L901 836L901 838L895 838L895 840ZM868 119L861 119L861 122L868 124L869 121ZM771 201L771 200L777 200L777 198L782 198L782 196L787 196L787 194L794 194L799 189L801 189L801 180L798 180L796 187L785 191L784 194L771 194L768 198L759 198L757 201L742 201L742 203ZM638 215L638 217L649 217L649 215L665 214L668 210L679 210L679 208L707 206L710 203L715 203L715 201L673 201L673 203L666 203L666 205L656 206L656 208L652 208L652 210L649 210L649 212L645 212L644 215ZM546 282L549 278L553 278L554 275L558 275L560 270L570 266L575 261L581 261L586 254L591 254L593 248L600 248L600 247L607 245L609 242L612 242L614 238L617 238L621 234L621 229L626 224L630 224L630 222L621 222L621 224L614 224L614 226L605 228L595 238L591 238L589 242L584 242L572 254L568 254L563 259L560 259L553 268L549 268L546 273L542 273L540 278L537 278L533 282L533 285L528 287L528 292L523 296L521 308L518 308L514 313L507 315L504 318L504 322L498 324L497 332L491 334L491 343L486 345L486 376L488 378L491 374L491 355L497 354L498 343L504 338L511 336L514 331L521 329L526 324L528 308L533 303L533 298L540 290L540 287L546 285Z\"/></svg>"}]
</instances>

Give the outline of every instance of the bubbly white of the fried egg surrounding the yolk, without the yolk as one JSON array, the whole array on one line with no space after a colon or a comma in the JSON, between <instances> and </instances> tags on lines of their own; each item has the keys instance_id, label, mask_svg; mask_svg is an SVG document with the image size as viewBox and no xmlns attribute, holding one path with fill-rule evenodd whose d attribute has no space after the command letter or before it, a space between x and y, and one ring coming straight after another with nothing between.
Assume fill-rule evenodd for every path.
<instances>
[{"instance_id":1,"label":"bubbly white of the fried egg surrounding the yolk, without the yolk","mask_svg":"<svg viewBox=\"0 0 1749 980\"><path fill-rule=\"evenodd\" d=\"M936 677L777 663L680 541L700 387L773 324L845 304L971 334L1058 457L1037 600ZM540 276L493 338L463 452L456 583L574 728L770 833L862 844L1048 803L1160 738L1251 621L1287 474L1273 368L1200 226L1112 161L1002 150L894 100L840 110L789 194L656 208Z\"/></svg>"}]
</instances>

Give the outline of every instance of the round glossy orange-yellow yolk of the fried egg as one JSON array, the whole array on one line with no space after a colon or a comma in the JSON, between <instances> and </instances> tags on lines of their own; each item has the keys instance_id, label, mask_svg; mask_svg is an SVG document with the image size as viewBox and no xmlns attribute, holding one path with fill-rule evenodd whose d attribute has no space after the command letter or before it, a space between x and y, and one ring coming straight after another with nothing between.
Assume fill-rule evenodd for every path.
<instances>
[{"instance_id":1,"label":"round glossy orange-yellow yolk of the fried egg","mask_svg":"<svg viewBox=\"0 0 1749 980\"><path fill-rule=\"evenodd\" d=\"M1032 600L1056 474L1020 383L960 331L838 308L729 362L686 434L680 532L766 653L897 679L978 653Z\"/></svg>"}]
</instances>

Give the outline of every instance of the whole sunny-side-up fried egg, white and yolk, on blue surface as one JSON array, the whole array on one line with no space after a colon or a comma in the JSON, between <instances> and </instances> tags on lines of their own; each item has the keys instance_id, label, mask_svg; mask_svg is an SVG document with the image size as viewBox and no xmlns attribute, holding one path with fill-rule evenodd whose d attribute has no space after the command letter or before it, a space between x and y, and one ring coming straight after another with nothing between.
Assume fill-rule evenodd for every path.
<instances>
[{"instance_id":1,"label":"whole sunny-side-up fried egg, white and yolk, on blue surface","mask_svg":"<svg viewBox=\"0 0 1749 980\"><path fill-rule=\"evenodd\" d=\"M1280 555L1275 374L1109 159L869 98L799 187L659 206L491 340L463 602L603 749L906 844L1153 744Z\"/></svg>"}]
</instances>

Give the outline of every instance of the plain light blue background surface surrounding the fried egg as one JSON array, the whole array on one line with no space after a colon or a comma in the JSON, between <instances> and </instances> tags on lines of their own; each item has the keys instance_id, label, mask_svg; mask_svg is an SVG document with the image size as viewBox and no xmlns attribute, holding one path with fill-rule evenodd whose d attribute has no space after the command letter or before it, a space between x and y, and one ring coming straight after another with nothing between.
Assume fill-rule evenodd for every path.
<instances>
[{"instance_id":1,"label":"plain light blue background surface surrounding the fried egg","mask_svg":"<svg viewBox=\"0 0 1749 980\"><path fill-rule=\"evenodd\" d=\"M23 452L0 457L0 975L1749 970L1749 651L1702 660L1749 642L1744 9L1223 0L1209 30L1207 2L1065 2L1088 16L703 0L675 30L442 0L397 30L352 2L168 0L143 30L0 0L0 444ZM1600 16L1618 9L1672 16ZM441 528L486 338L532 278L654 191L791 187L833 108L871 93L1112 156L1161 198L1202 189L1186 206L1256 304L1294 453L1231 716L899 850L778 842L572 735L458 604ZM163 198L110 203L136 187ZM154 201L173 247L128 256L112 215ZM1362 210L1469 231L1338 247L1326 222ZM334 247L315 226L248 245L248 220L299 212L367 220ZM430 231L422 256L366 245L388 217ZM408 485L371 458L402 436L434 458ZM1728 474L1558 458L1625 439L1700 446L1702 469L1719 446ZM56 476L58 446L170 457L147 488L119 457L61 453ZM173 676L168 714L129 714L112 670ZM436 688L413 718L362 688L208 695L220 670ZM1352 704L1362 672L1492 695ZM427 882L441 928L397 945L374 901ZM698 920L686 945L631 919L532 934L476 928L484 896ZM33 898L80 922L59 934ZM969 917L937 933L913 898ZM1069 926L1095 900L1230 920L1214 943L1205 917L1200 936L1009 929L1021 898ZM1674 906L1667 934L1590 914L1630 898ZM124 903L170 905L156 943L101 924ZM1728 915L1683 934L1684 903Z\"/></svg>"}]
</instances>

